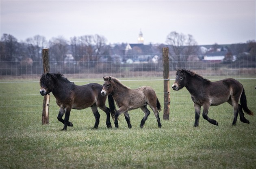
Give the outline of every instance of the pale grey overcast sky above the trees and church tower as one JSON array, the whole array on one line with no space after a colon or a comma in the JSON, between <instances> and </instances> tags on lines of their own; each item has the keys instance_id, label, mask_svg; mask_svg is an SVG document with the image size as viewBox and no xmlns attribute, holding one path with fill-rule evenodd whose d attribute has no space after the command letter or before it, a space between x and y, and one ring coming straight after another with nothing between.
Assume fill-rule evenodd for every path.
<instances>
[{"instance_id":1,"label":"pale grey overcast sky above the trees and church tower","mask_svg":"<svg viewBox=\"0 0 256 169\"><path fill-rule=\"evenodd\" d=\"M0 0L0 33L24 41L35 35L104 36L107 44L165 43L170 32L199 45L256 39L256 0Z\"/></svg>"}]
</instances>

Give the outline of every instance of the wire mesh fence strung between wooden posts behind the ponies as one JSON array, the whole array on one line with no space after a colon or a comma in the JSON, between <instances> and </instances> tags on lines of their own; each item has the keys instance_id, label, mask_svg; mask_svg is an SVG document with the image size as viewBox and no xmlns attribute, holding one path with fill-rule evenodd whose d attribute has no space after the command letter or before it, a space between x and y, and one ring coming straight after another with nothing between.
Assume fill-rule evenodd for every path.
<instances>
[{"instance_id":1,"label":"wire mesh fence strung between wooden posts behind the ponies","mask_svg":"<svg viewBox=\"0 0 256 169\"><path fill-rule=\"evenodd\" d=\"M1 55L0 57L1 113L41 113L43 100L39 94L39 79L43 73L41 55ZM229 61L218 59L178 61L178 56L169 58L170 85L174 82L177 68L190 69L212 81L235 78L246 87L247 100L256 100L255 56L241 55L236 56L236 60ZM156 90L162 102L163 80L168 80L163 79L162 56L156 54L50 55L50 72L62 73L76 85L89 82L102 84L104 76L117 77L130 88L149 85ZM185 97L190 97L188 91L182 89L177 94L177 91L171 90L170 113L180 108L177 105L189 103L193 108L192 101L187 101ZM55 99L52 97L51 104L55 104L54 102ZM256 104L251 107L255 112ZM57 106L50 109L53 112L59 111ZM89 109L86 111L91 112Z\"/></svg>"}]
</instances>

